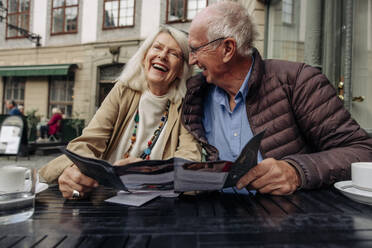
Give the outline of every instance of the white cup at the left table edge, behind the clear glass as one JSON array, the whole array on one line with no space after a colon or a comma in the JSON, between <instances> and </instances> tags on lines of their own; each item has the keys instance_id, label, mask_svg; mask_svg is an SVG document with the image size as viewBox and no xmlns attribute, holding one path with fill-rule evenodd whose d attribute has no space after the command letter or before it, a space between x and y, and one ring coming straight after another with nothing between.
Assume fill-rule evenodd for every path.
<instances>
[{"instance_id":1,"label":"white cup at the left table edge, behind the clear glass","mask_svg":"<svg viewBox=\"0 0 372 248\"><path fill-rule=\"evenodd\" d=\"M0 167L0 192L20 192L25 190L30 169L19 166Z\"/></svg>"}]
</instances>

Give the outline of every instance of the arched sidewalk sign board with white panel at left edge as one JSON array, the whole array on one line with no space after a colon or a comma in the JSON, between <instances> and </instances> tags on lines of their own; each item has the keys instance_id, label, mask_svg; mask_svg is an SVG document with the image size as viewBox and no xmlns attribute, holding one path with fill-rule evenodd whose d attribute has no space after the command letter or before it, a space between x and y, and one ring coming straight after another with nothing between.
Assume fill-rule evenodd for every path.
<instances>
[{"instance_id":1,"label":"arched sidewalk sign board with white panel at left edge","mask_svg":"<svg viewBox=\"0 0 372 248\"><path fill-rule=\"evenodd\" d=\"M8 116L4 119L0 129L0 154L27 156L28 152L27 139L27 122L21 116Z\"/></svg>"}]
</instances>

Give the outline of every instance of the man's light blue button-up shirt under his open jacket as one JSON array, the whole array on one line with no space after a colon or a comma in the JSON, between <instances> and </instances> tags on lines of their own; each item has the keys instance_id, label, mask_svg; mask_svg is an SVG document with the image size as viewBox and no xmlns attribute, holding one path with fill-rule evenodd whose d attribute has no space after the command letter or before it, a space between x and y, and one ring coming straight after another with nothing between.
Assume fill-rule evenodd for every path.
<instances>
[{"instance_id":1,"label":"man's light blue button-up shirt under his open jacket","mask_svg":"<svg viewBox=\"0 0 372 248\"><path fill-rule=\"evenodd\" d=\"M233 111L230 110L228 94L218 86L211 85L204 101L203 125L206 137L208 142L218 149L222 160L235 161L253 137L245 104L253 63L254 61L235 95L236 106ZM260 161L262 156L259 152L257 162Z\"/></svg>"}]
</instances>

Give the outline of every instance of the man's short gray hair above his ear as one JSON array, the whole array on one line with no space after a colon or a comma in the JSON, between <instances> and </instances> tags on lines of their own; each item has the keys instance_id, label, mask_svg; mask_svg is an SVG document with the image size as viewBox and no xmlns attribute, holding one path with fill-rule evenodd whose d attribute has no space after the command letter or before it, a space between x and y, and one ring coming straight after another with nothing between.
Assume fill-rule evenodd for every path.
<instances>
[{"instance_id":1,"label":"man's short gray hair above his ear","mask_svg":"<svg viewBox=\"0 0 372 248\"><path fill-rule=\"evenodd\" d=\"M234 38L238 54L244 57L251 55L258 32L248 11L241 4L231 1L219 2L208 8L215 12L208 20L208 40Z\"/></svg>"}]
</instances>

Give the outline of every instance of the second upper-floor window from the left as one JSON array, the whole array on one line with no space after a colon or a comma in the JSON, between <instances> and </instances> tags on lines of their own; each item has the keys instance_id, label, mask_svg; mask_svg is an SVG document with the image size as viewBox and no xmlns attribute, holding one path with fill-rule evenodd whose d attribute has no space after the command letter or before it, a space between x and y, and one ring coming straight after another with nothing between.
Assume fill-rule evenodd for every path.
<instances>
[{"instance_id":1,"label":"second upper-floor window from the left","mask_svg":"<svg viewBox=\"0 0 372 248\"><path fill-rule=\"evenodd\" d=\"M79 0L53 0L52 34L76 33Z\"/></svg>"}]
</instances>

